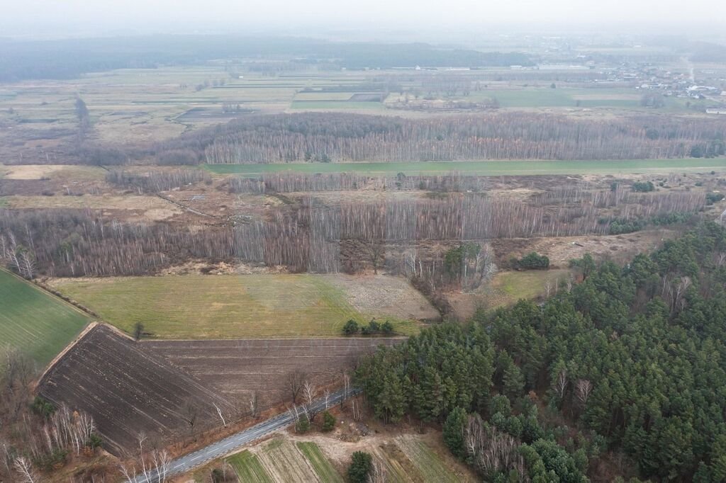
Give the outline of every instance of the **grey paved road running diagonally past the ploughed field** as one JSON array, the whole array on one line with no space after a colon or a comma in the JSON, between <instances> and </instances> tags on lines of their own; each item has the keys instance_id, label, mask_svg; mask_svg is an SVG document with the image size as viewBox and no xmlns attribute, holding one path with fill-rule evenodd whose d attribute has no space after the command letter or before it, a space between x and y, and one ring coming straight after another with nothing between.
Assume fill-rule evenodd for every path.
<instances>
[{"instance_id":1,"label":"grey paved road running diagonally past the ploughed field","mask_svg":"<svg viewBox=\"0 0 726 483\"><path fill-rule=\"evenodd\" d=\"M330 407L338 404L338 402L346 399L346 397L351 397L359 392L359 389L348 389L347 396L343 389L332 392L327 400L328 406ZM311 410L313 413L325 410L325 399L316 400L311 405ZM251 428L232 434L232 436L228 436L224 439L220 439L218 442L205 446L194 453L189 453L188 455L181 456L181 458L176 458L176 460L172 461L169 465L166 476L168 477L174 474L184 473L185 471L189 471L196 466L203 465L208 461L221 458L222 456L232 453L256 439L264 437L266 434L285 428L286 426L290 426L290 424L293 424L293 416L290 416L290 413L287 412L279 414L274 418L269 418L266 421L262 421L261 423L252 426ZM136 479L134 479L134 483L156 482L158 482L158 474L156 474L155 471L152 471L148 476L139 475L136 476Z\"/></svg>"}]
</instances>

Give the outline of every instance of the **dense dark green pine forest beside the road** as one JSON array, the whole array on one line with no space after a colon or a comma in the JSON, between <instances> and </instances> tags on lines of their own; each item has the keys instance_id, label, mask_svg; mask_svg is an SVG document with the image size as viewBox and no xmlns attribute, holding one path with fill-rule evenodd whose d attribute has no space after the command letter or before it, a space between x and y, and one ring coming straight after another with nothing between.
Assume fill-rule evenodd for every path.
<instances>
[{"instance_id":1,"label":"dense dark green pine forest beside the road","mask_svg":"<svg viewBox=\"0 0 726 483\"><path fill-rule=\"evenodd\" d=\"M542 305L362 360L376 416L444 424L486 481L724 481L726 229L703 223L624 267L574 266L582 283Z\"/></svg>"}]
</instances>

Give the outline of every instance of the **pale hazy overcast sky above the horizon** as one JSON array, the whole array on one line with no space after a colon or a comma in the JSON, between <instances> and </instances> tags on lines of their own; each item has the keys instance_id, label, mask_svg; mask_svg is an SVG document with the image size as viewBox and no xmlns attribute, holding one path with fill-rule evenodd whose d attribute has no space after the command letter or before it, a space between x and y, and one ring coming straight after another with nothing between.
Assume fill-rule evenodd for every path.
<instances>
[{"instance_id":1,"label":"pale hazy overcast sky above the horizon","mask_svg":"<svg viewBox=\"0 0 726 483\"><path fill-rule=\"evenodd\" d=\"M452 30L507 25L552 30L595 25L648 30L726 27L726 0L0 0L0 36L115 30L189 31L266 27L301 35L399 25ZM662 33L669 33L663 30Z\"/></svg>"}]
</instances>

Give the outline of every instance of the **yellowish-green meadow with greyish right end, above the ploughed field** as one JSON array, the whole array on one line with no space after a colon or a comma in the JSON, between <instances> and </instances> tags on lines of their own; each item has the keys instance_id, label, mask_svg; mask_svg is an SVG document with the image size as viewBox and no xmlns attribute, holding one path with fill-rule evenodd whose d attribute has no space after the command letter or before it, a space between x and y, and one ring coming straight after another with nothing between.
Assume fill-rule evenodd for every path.
<instances>
[{"instance_id":1,"label":"yellowish-green meadow with greyish right end, above the ploughed field","mask_svg":"<svg viewBox=\"0 0 726 483\"><path fill-rule=\"evenodd\" d=\"M52 285L124 331L140 321L160 338L337 337L348 319L372 317L389 319L396 334L409 335L418 330L415 319L438 315L403 278L385 276L68 278Z\"/></svg>"}]
</instances>

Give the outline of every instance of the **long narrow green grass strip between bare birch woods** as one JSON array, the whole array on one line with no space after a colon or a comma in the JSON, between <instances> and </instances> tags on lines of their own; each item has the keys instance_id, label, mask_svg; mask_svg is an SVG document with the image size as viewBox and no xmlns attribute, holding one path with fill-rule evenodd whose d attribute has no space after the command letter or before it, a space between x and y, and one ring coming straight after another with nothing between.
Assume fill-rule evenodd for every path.
<instances>
[{"instance_id":1,"label":"long narrow green grass strip between bare birch woods","mask_svg":"<svg viewBox=\"0 0 726 483\"><path fill-rule=\"evenodd\" d=\"M370 175L436 175L457 171L479 176L578 175L726 171L726 158L682 160L597 161L448 161L448 162L298 162L249 165L205 165L221 175L260 176L264 173L366 173Z\"/></svg>"}]
</instances>

